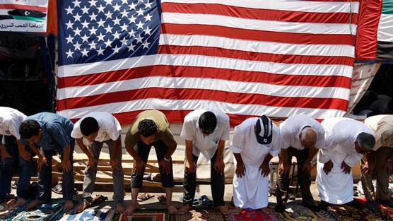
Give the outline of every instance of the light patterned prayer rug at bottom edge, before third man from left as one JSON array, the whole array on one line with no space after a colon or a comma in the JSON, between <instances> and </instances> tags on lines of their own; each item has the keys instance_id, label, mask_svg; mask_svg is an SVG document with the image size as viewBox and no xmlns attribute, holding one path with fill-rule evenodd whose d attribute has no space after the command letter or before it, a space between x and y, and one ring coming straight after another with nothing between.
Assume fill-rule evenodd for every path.
<instances>
[{"instance_id":1,"label":"light patterned prayer rug at bottom edge, before third man from left","mask_svg":"<svg viewBox=\"0 0 393 221\"><path fill-rule=\"evenodd\" d=\"M115 210L110 209L86 209L82 213L64 215L59 221L71 221L71 220L92 220L92 221L111 221L115 215Z\"/></svg>"}]
</instances>

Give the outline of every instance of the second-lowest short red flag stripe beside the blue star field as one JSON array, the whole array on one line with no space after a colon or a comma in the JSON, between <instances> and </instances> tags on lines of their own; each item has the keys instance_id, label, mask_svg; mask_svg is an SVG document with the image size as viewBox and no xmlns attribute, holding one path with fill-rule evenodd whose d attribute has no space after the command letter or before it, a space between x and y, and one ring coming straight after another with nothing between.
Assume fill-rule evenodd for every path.
<instances>
[{"instance_id":1,"label":"second-lowest short red flag stripe beside the blue star field","mask_svg":"<svg viewBox=\"0 0 393 221\"><path fill-rule=\"evenodd\" d=\"M161 32L176 35L211 35L233 39L289 44L355 44L355 37L352 35L271 32L228 28L218 25L180 25L163 23L161 24ZM241 35L239 34L240 32Z\"/></svg>"}]
</instances>

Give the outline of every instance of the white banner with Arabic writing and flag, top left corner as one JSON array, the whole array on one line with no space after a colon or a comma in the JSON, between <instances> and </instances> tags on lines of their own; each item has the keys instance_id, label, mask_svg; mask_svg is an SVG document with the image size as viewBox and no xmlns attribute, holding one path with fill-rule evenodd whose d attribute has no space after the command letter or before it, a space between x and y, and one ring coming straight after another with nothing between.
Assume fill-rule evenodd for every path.
<instances>
[{"instance_id":1,"label":"white banner with Arabic writing and flag, top left corner","mask_svg":"<svg viewBox=\"0 0 393 221\"><path fill-rule=\"evenodd\" d=\"M0 0L0 31L46 32L48 0Z\"/></svg>"}]
</instances>

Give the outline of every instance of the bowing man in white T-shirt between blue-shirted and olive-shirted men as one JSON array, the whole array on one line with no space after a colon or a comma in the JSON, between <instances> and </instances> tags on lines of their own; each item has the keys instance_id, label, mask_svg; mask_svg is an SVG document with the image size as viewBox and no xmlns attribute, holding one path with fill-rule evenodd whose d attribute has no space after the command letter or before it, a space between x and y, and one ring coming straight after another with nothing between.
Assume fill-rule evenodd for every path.
<instances>
[{"instance_id":1,"label":"bowing man in white T-shirt between blue-shirted and olive-shirted men","mask_svg":"<svg viewBox=\"0 0 393 221\"><path fill-rule=\"evenodd\" d=\"M88 156L88 165L83 180L83 203L76 207L81 213L88 208L92 198L97 174L97 164L100 158L102 145L106 143L110 153L110 165L112 166L113 191L115 210L117 213L124 211L124 174L122 169L122 126L112 114L107 112L90 112L74 124L71 136L76 139L79 147ZM86 138L88 147L83 143Z\"/></svg>"}]
</instances>

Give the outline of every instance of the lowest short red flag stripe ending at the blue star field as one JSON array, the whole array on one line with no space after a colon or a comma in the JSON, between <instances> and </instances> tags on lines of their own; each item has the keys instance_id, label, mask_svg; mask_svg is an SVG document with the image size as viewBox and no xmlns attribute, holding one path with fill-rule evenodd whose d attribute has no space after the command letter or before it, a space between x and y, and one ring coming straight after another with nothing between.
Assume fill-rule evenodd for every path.
<instances>
[{"instance_id":1,"label":"lowest short red flag stripe ending at the blue star field","mask_svg":"<svg viewBox=\"0 0 393 221\"><path fill-rule=\"evenodd\" d=\"M355 59L346 56L310 56L295 54L269 54L223 49L219 47L160 45L158 54L199 54L249 61L267 61L283 64L339 64L353 66Z\"/></svg>"}]
</instances>

